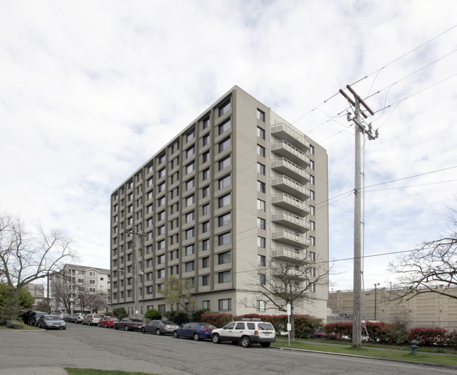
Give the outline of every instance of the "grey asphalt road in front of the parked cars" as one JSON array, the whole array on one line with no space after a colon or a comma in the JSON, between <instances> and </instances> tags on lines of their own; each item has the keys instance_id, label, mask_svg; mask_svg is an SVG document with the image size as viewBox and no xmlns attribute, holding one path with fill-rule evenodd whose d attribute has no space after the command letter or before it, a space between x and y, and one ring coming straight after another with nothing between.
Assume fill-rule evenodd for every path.
<instances>
[{"instance_id":1,"label":"grey asphalt road in front of the parked cars","mask_svg":"<svg viewBox=\"0 0 457 375\"><path fill-rule=\"evenodd\" d=\"M316 352L242 348L68 324L65 331L0 331L0 368L81 367L186 374L457 374L456 370Z\"/></svg>"}]
</instances>

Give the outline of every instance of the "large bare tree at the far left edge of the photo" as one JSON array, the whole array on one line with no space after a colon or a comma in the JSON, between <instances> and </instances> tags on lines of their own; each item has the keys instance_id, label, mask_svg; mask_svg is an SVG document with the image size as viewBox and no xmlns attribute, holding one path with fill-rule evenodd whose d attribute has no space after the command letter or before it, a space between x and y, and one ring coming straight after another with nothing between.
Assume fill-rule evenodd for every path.
<instances>
[{"instance_id":1,"label":"large bare tree at the far left edge of the photo","mask_svg":"<svg viewBox=\"0 0 457 375\"><path fill-rule=\"evenodd\" d=\"M73 258L72 240L58 230L44 231L37 227L29 233L22 221L4 212L0 216L0 279L15 290L11 318L18 316L20 288L48 277L63 266L63 261Z\"/></svg>"}]
</instances>

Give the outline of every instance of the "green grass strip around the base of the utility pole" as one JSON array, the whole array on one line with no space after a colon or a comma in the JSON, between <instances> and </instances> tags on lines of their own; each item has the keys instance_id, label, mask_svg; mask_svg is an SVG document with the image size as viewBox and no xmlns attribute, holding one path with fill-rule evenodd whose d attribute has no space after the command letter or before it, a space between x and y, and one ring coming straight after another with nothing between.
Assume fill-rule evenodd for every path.
<instances>
[{"instance_id":1,"label":"green grass strip around the base of the utility pole","mask_svg":"<svg viewBox=\"0 0 457 375\"><path fill-rule=\"evenodd\" d=\"M288 348L288 341L279 339L273 346L280 348ZM387 360L403 360L414 362L430 362L437 364L449 364L457 366L457 355L441 354L438 352L424 352L418 349L417 355L411 355L411 350L397 350L387 348L373 348L368 345L362 345L362 348L352 348L351 344L343 345L341 343L316 343L310 341L290 341L290 348L302 350L315 350L317 352L330 352L337 354L361 355L363 357L385 358Z\"/></svg>"}]
</instances>

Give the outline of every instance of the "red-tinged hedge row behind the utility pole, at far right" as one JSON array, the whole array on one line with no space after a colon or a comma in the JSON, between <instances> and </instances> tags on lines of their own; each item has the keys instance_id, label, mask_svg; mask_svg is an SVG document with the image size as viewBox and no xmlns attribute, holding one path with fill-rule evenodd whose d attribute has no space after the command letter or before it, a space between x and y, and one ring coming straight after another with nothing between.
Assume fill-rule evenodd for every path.
<instances>
[{"instance_id":1,"label":"red-tinged hedge row behind the utility pole, at far right","mask_svg":"<svg viewBox=\"0 0 457 375\"><path fill-rule=\"evenodd\" d=\"M352 340L352 323L336 322L323 326L328 337L333 340L348 338ZM367 334L368 333L368 334ZM403 345L418 341L423 346L449 346L457 348L457 330L452 332L444 328L422 328L416 327L407 329L404 324L385 324L384 322L367 322L366 330L362 328L362 336L365 341L383 344Z\"/></svg>"}]
</instances>

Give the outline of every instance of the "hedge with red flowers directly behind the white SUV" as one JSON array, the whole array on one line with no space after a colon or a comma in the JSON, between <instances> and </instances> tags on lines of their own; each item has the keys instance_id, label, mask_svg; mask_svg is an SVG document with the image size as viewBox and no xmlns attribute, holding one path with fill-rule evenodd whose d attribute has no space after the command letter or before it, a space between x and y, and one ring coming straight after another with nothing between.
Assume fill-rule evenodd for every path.
<instances>
[{"instance_id":1,"label":"hedge with red flowers directly behind the white SUV","mask_svg":"<svg viewBox=\"0 0 457 375\"><path fill-rule=\"evenodd\" d=\"M259 318L264 322L271 323L278 333L287 331L287 315L244 314L233 317L232 314L202 314L201 321L221 328L241 318ZM294 315L294 323L295 338L309 338L312 333L322 326L322 319L311 317L311 315Z\"/></svg>"}]
</instances>

